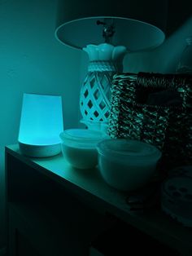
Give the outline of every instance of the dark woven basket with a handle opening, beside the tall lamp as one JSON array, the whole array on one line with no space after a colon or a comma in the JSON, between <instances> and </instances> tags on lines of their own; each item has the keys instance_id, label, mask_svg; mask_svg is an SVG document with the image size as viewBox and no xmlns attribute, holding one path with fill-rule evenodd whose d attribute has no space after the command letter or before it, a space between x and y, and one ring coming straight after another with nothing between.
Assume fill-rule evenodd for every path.
<instances>
[{"instance_id":1,"label":"dark woven basket with a handle opening, beside the tall lamp","mask_svg":"<svg viewBox=\"0 0 192 256\"><path fill-rule=\"evenodd\" d=\"M162 152L165 169L192 164L192 76L120 73L111 86L111 138L137 139ZM148 104L152 93L171 92L179 103ZM160 95L160 94L159 94ZM163 97L164 98L164 97Z\"/></svg>"}]
</instances>

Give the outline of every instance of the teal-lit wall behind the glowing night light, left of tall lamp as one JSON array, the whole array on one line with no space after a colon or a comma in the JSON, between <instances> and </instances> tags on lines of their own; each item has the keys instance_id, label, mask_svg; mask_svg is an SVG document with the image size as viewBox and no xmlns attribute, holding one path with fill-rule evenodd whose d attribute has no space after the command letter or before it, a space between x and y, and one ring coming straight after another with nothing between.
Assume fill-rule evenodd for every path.
<instances>
[{"instance_id":1,"label":"teal-lit wall behind the glowing night light, left of tall lamp","mask_svg":"<svg viewBox=\"0 0 192 256\"><path fill-rule=\"evenodd\" d=\"M55 40L55 0L0 0L0 248L4 146L17 142L24 92L63 96L64 127L77 126L81 51Z\"/></svg>"}]
</instances>

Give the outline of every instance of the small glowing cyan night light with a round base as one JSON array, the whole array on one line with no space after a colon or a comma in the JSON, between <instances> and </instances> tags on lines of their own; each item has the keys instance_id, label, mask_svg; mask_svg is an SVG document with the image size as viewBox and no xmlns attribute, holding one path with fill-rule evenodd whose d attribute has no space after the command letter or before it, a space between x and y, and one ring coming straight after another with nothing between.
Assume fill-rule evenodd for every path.
<instances>
[{"instance_id":1,"label":"small glowing cyan night light with a round base","mask_svg":"<svg viewBox=\"0 0 192 256\"><path fill-rule=\"evenodd\" d=\"M20 151L28 157L51 157L61 152L63 131L60 95L26 94L20 117Z\"/></svg>"}]
</instances>

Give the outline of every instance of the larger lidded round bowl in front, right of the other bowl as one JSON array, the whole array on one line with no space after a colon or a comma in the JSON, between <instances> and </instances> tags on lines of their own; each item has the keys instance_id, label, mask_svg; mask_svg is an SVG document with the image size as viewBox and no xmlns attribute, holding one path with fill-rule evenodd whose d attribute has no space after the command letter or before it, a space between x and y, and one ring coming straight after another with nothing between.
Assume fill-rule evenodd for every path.
<instances>
[{"instance_id":1,"label":"larger lidded round bowl in front, right of the other bowl","mask_svg":"<svg viewBox=\"0 0 192 256\"><path fill-rule=\"evenodd\" d=\"M122 191L144 186L154 174L161 157L155 146L130 139L105 139L98 143L97 150L103 179Z\"/></svg>"}]
</instances>

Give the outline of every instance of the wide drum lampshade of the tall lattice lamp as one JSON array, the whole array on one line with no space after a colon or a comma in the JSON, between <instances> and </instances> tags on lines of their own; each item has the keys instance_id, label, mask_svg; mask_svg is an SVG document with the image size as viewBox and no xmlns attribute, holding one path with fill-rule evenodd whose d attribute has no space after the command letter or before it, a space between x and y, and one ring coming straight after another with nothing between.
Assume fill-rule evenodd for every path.
<instances>
[{"instance_id":1,"label":"wide drum lampshade of the tall lattice lamp","mask_svg":"<svg viewBox=\"0 0 192 256\"><path fill-rule=\"evenodd\" d=\"M61 0L55 37L63 44L82 49L103 43L103 25L113 19L112 45L128 51L154 48L164 42L167 17L166 0Z\"/></svg>"}]
</instances>

